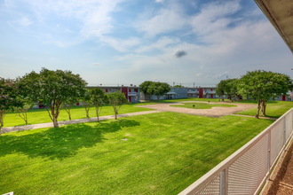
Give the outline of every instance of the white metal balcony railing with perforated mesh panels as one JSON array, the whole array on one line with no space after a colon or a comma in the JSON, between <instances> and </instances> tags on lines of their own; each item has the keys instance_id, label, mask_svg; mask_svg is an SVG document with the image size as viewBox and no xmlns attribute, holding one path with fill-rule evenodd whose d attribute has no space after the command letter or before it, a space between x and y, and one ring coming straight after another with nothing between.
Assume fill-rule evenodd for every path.
<instances>
[{"instance_id":1,"label":"white metal balcony railing with perforated mesh panels","mask_svg":"<svg viewBox=\"0 0 293 195\"><path fill-rule=\"evenodd\" d=\"M293 108L179 195L257 194L290 141L292 121Z\"/></svg>"}]
</instances>

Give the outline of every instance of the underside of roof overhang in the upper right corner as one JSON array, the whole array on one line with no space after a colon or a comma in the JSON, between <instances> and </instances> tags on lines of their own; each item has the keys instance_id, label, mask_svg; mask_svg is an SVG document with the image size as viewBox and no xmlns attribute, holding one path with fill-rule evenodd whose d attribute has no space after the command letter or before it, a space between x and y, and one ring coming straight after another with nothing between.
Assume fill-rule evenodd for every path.
<instances>
[{"instance_id":1,"label":"underside of roof overhang in the upper right corner","mask_svg":"<svg viewBox=\"0 0 293 195\"><path fill-rule=\"evenodd\" d=\"M255 0L293 53L293 1Z\"/></svg>"}]
</instances>

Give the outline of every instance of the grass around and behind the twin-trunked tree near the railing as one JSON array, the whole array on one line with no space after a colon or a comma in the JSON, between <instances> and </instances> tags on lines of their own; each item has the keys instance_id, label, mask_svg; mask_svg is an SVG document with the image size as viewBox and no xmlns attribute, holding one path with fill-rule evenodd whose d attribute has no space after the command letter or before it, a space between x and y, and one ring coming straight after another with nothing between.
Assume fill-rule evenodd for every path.
<instances>
[{"instance_id":1,"label":"grass around and behind the twin-trunked tree near the railing","mask_svg":"<svg viewBox=\"0 0 293 195\"><path fill-rule=\"evenodd\" d=\"M256 101L249 100L245 103L255 104L257 105ZM271 118L279 118L281 115L289 111L293 107L293 102L289 101L269 101L265 108L266 117ZM249 110L241 111L236 114L243 114L243 115L250 115L255 116L257 113L257 107L251 108ZM261 116L261 112L259 112L259 116Z\"/></svg>"}]
</instances>

